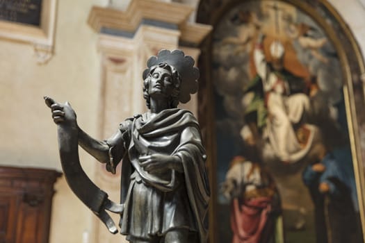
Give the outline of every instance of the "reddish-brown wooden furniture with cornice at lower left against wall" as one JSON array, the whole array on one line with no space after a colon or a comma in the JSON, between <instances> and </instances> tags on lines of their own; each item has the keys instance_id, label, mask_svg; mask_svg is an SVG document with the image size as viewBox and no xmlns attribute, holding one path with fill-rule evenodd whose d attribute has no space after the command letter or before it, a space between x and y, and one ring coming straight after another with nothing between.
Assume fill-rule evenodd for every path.
<instances>
[{"instance_id":1,"label":"reddish-brown wooden furniture with cornice at lower left against wall","mask_svg":"<svg viewBox=\"0 0 365 243\"><path fill-rule=\"evenodd\" d=\"M48 169L0 167L0 243L48 242L58 176Z\"/></svg>"}]
</instances>

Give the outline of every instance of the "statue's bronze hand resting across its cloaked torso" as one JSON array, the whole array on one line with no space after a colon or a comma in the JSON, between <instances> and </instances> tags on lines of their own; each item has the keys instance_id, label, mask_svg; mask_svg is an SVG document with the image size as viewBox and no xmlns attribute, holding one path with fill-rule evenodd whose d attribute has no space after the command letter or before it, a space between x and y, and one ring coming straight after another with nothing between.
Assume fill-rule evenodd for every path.
<instances>
[{"instance_id":1,"label":"statue's bronze hand resting across its cloaked torso","mask_svg":"<svg viewBox=\"0 0 365 243\"><path fill-rule=\"evenodd\" d=\"M168 156L162 153L140 156L140 167L147 172L161 172L167 169L182 171L181 160L177 156Z\"/></svg>"}]
</instances>

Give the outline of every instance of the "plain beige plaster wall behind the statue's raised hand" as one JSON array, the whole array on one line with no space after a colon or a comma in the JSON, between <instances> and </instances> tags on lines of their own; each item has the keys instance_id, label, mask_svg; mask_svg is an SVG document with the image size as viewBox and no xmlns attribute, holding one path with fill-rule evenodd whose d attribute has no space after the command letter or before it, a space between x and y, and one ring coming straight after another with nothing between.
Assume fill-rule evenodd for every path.
<instances>
[{"instance_id":1,"label":"plain beige plaster wall behind the statue's raised hand","mask_svg":"<svg viewBox=\"0 0 365 243\"><path fill-rule=\"evenodd\" d=\"M56 126L43 96L70 101L78 122L96 135L99 54L97 34L87 25L93 5L108 0L59 0L55 55L38 65L33 47L0 40L0 164L60 170ZM84 169L93 177L94 160L81 153ZM83 242L90 211L76 199L65 180L56 183L51 219L51 243Z\"/></svg>"}]
</instances>

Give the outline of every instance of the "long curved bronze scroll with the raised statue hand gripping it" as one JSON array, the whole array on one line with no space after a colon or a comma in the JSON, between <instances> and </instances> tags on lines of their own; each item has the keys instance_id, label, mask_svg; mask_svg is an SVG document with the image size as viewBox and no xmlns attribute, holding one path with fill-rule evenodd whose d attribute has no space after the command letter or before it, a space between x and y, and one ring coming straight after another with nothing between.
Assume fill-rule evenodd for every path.
<instances>
[{"instance_id":1,"label":"long curved bronze scroll with the raised statue hand gripping it","mask_svg":"<svg viewBox=\"0 0 365 243\"><path fill-rule=\"evenodd\" d=\"M111 233L117 233L113 219L105 210L122 213L123 206L110 201L108 194L92 183L83 171L78 149L81 129L76 123L76 113L68 102L60 104L50 97L44 97L44 101L51 108L54 122L58 125L60 161L68 185L74 194L106 224Z\"/></svg>"}]
</instances>

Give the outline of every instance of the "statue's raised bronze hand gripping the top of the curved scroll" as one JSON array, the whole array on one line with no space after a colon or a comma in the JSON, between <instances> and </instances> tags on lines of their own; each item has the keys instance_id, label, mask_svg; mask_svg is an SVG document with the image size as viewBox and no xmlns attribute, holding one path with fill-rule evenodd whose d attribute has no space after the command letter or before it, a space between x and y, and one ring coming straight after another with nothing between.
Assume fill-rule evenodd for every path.
<instances>
[{"instance_id":1,"label":"statue's raised bronze hand gripping the top of the curved scroll","mask_svg":"<svg viewBox=\"0 0 365 243\"><path fill-rule=\"evenodd\" d=\"M44 97L44 101L46 105L51 108L54 123L60 124L67 122L76 125L76 113L74 112L74 109L72 109L70 103L57 103L51 97Z\"/></svg>"}]
</instances>

